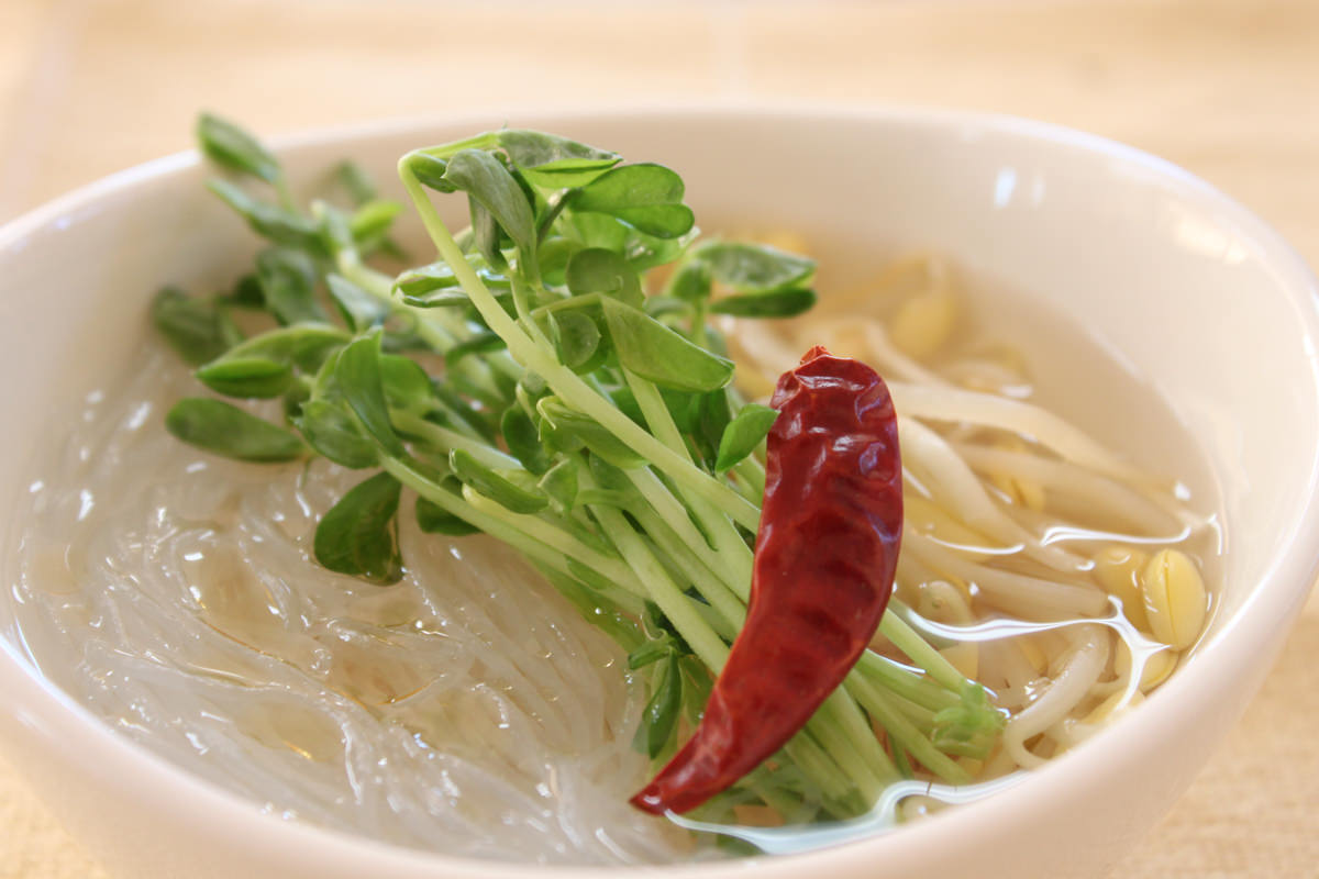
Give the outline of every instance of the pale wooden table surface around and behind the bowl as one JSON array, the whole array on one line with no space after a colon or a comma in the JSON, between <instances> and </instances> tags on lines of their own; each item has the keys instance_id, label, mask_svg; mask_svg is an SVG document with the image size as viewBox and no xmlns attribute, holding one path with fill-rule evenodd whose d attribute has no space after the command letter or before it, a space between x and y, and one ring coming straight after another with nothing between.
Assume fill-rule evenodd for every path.
<instances>
[{"instance_id":1,"label":"pale wooden table surface around and behind the bowl","mask_svg":"<svg viewBox=\"0 0 1319 879\"><path fill-rule=\"evenodd\" d=\"M1319 3L0 0L0 221L189 146L477 107L938 104L1125 141L1319 265ZM1319 601L1217 756L1117 875L1319 875ZM0 764L0 879L100 879Z\"/></svg>"}]
</instances>

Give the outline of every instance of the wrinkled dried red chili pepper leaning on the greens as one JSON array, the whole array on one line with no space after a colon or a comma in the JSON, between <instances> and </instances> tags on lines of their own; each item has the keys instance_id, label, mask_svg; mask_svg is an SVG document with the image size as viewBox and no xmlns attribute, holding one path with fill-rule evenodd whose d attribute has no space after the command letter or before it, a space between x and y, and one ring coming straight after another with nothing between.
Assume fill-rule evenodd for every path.
<instances>
[{"instance_id":1,"label":"wrinkled dried red chili pepper leaning on the greens","mask_svg":"<svg viewBox=\"0 0 1319 879\"><path fill-rule=\"evenodd\" d=\"M696 808L782 747L856 664L893 593L902 464L884 381L815 347L770 405L747 622L695 734L632 797L654 814Z\"/></svg>"}]
</instances>

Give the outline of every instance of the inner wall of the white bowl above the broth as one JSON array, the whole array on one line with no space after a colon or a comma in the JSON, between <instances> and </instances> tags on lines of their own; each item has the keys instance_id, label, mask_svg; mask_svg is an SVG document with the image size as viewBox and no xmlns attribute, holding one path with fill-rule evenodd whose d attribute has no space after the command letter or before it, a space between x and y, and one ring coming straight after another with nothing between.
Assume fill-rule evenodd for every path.
<instances>
[{"instance_id":1,"label":"inner wall of the white bowl above the broth","mask_svg":"<svg viewBox=\"0 0 1319 879\"><path fill-rule=\"evenodd\" d=\"M309 137L285 156L298 188L314 188L351 154L388 191L408 149L504 121ZM1208 648L1182 675L1194 679L1196 664L1250 613L1257 622L1244 626L1242 644L1266 630L1277 637L1302 600L1316 548L1314 279L1272 232L1204 184L1082 134L958 115L711 111L509 121L671 165L707 228L753 220L802 229L868 248L867 261L885 250L947 253L972 277L1064 311L1171 407L1199 443L1221 499L1228 552L1220 610ZM0 232L0 366L12 377L0 496L28 490L49 414L121 372L148 332L145 306L162 283L195 290L228 282L255 249L203 191L206 175L191 157L165 159ZM1146 449L1142 463L1175 469L1178 443L1151 435L1111 401L1100 405L1104 393L1078 386L1063 409L1113 444ZM7 550L21 527L12 505L0 509ZM11 629L11 609L0 602L0 630ZM1196 687L1184 689L1190 705ZM1046 796L1028 792L1033 785L1005 796ZM901 845L897 837L882 842Z\"/></svg>"}]
</instances>

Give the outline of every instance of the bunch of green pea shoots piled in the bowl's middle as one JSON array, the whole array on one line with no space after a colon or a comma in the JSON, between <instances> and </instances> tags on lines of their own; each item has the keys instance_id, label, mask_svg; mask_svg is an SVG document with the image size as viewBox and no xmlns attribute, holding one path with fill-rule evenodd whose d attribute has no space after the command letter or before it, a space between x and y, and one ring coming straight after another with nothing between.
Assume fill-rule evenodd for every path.
<instances>
[{"instance_id":1,"label":"bunch of green pea shoots piled in the bowl's middle","mask_svg":"<svg viewBox=\"0 0 1319 879\"><path fill-rule=\"evenodd\" d=\"M739 395L707 318L801 314L815 264L700 239L662 165L508 129L401 158L438 258L385 274L371 260L402 253L402 206L360 167L334 175L346 202L302 210L255 137L214 116L198 137L226 174L211 191L265 248L231 293L162 290L153 322L210 391L278 399L284 418L197 397L169 412L170 432L240 460L361 470L317 528L331 571L397 582L406 514L427 534L503 540L628 654L649 687L636 746L671 756L745 618L776 418ZM470 225L451 233L438 198L464 199ZM661 266L662 283L649 274ZM245 336L239 311L266 328ZM984 756L1001 717L936 651L909 655L921 668L867 654L702 817L741 804L855 816L913 762L968 781L952 756Z\"/></svg>"}]
</instances>

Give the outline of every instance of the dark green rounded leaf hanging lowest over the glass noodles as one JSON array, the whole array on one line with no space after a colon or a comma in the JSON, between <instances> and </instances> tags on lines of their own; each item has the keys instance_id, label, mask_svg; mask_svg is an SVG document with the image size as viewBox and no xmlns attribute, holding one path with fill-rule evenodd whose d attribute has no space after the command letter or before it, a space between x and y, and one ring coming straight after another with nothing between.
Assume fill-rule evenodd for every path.
<instances>
[{"instance_id":1,"label":"dark green rounded leaf hanging lowest over the glass noodles","mask_svg":"<svg viewBox=\"0 0 1319 879\"><path fill-rule=\"evenodd\" d=\"M323 567L380 585L404 576L398 553L398 480L376 473L321 517L315 556Z\"/></svg>"}]
</instances>

